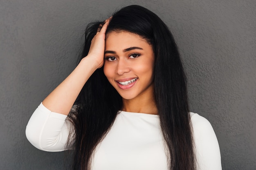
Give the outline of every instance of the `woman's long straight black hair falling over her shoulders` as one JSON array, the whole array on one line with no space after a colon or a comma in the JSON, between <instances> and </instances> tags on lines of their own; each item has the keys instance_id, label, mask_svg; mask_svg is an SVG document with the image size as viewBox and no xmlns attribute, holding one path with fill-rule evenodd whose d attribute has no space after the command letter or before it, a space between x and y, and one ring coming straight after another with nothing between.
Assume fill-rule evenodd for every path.
<instances>
[{"instance_id":1,"label":"woman's long straight black hair falling over her shoulders","mask_svg":"<svg viewBox=\"0 0 256 170\"><path fill-rule=\"evenodd\" d=\"M89 24L85 31L82 57L103 22ZM173 35L164 22L148 9L131 5L112 15L106 34L111 31L135 33L152 45L155 54L154 87L160 125L166 144L170 170L195 170L186 76ZM122 98L97 69L81 90L76 111L69 118L74 124L74 170L89 170L92 155L112 126Z\"/></svg>"}]
</instances>

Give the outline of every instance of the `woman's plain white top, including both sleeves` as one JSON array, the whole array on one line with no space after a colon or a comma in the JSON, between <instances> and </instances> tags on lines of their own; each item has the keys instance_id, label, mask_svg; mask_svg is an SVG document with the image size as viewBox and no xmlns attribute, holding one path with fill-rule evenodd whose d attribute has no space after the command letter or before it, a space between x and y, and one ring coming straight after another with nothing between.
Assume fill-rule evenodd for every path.
<instances>
[{"instance_id":1,"label":"woman's plain white top, including both sleeves","mask_svg":"<svg viewBox=\"0 0 256 170\"><path fill-rule=\"evenodd\" d=\"M41 103L31 116L26 136L36 148L65 150L71 124L67 116ZM221 170L220 148L209 121L191 112L198 170ZM106 137L97 146L92 170L168 170L159 116L119 111Z\"/></svg>"}]
</instances>

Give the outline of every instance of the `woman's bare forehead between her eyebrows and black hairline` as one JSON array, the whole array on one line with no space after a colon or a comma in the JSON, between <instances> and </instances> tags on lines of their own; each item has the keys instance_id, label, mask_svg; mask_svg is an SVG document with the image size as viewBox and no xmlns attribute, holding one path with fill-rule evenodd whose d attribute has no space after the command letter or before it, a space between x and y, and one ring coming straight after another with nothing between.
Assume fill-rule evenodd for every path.
<instances>
[{"instance_id":1,"label":"woman's bare forehead between her eyebrows and black hairline","mask_svg":"<svg viewBox=\"0 0 256 170\"><path fill-rule=\"evenodd\" d=\"M130 46L149 46L151 45L135 33L130 33L127 31L111 31L106 35L106 44L105 48L129 48Z\"/></svg>"}]
</instances>

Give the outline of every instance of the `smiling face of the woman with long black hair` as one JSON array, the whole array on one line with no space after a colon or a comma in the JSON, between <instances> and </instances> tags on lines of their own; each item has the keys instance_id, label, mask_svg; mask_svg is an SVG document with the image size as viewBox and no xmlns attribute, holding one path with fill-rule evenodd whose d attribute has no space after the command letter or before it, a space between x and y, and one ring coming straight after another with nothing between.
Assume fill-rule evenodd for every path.
<instances>
[{"instance_id":1,"label":"smiling face of the woman with long black hair","mask_svg":"<svg viewBox=\"0 0 256 170\"><path fill-rule=\"evenodd\" d=\"M112 31L106 35L104 74L124 99L153 96L152 46L137 34Z\"/></svg>"}]
</instances>

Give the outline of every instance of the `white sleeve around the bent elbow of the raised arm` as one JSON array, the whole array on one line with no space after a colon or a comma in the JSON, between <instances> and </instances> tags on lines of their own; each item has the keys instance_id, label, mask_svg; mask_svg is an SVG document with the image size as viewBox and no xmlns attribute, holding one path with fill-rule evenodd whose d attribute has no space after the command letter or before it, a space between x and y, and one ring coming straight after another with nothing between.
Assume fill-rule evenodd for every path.
<instances>
[{"instance_id":1,"label":"white sleeve around the bent elbow of the raised arm","mask_svg":"<svg viewBox=\"0 0 256 170\"><path fill-rule=\"evenodd\" d=\"M65 150L71 124L66 115L47 109L43 103L34 111L26 127L26 136L36 148L49 152Z\"/></svg>"}]
</instances>

